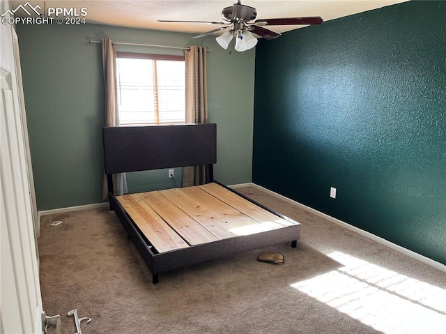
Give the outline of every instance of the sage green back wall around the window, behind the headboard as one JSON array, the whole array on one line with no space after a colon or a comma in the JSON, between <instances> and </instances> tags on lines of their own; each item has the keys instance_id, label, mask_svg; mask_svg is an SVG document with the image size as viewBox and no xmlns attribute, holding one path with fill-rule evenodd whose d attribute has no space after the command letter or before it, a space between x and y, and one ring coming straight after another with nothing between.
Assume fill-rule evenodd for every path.
<instances>
[{"instance_id":1,"label":"sage green back wall around the window, behind the headboard","mask_svg":"<svg viewBox=\"0 0 446 334\"><path fill-rule=\"evenodd\" d=\"M18 24L20 58L38 210L103 202L104 85L100 44L89 40L206 45L210 122L217 123L215 179L252 179L255 51L232 52L215 36L99 24ZM182 50L118 46L118 51L182 54ZM176 181L180 183L180 170ZM128 175L132 192L173 188L166 171Z\"/></svg>"}]
</instances>

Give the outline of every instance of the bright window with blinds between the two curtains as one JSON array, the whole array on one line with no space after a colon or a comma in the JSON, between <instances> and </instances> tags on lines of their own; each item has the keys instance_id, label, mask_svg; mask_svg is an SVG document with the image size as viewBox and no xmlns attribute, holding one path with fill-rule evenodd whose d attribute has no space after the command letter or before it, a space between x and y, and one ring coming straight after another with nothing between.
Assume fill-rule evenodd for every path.
<instances>
[{"instance_id":1,"label":"bright window with blinds between the two curtains","mask_svg":"<svg viewBox=\"0 0 446 334\"><path fill-rule=\"evenodd\" d=\"M116 54L121 126L185 123L184 56Z\"/></svg>"}]
</instances>

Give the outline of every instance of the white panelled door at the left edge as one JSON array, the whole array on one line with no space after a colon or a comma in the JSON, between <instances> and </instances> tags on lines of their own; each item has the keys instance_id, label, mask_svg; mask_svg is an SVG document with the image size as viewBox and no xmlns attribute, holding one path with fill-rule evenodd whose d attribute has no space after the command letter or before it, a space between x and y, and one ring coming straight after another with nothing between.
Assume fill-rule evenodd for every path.
<instances>
[{"instance_id":1,"label":"white panelled door at the left edge","mask_svg":"<svg viewBox=\"0 0 446 334\"><path fill-rule=\"evenodd\" d=\"M9 1L0 0L1 13ZM42 331L42 299L33 228L26 134L20 112L21 81L14 60L15 31L0 24L0 333Z\"/></svg>"}]
</instances>

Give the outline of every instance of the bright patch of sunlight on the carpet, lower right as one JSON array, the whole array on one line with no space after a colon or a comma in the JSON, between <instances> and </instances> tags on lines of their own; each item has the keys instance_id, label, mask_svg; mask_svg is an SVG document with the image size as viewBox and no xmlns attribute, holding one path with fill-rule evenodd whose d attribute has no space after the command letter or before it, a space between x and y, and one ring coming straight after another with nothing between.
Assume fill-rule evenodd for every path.
<instances>
[{"instance_id":1,"label":"bright patch of sunlight on the carpet, lower right","mask_svg":"<svg viewBox=\"0 0 446 334\"><path fill-rule=\"evenodd\" d=\"M342 252L343 264L291 287L383 333L445 333L446 290Z\"/></svg>"}]
</instances>

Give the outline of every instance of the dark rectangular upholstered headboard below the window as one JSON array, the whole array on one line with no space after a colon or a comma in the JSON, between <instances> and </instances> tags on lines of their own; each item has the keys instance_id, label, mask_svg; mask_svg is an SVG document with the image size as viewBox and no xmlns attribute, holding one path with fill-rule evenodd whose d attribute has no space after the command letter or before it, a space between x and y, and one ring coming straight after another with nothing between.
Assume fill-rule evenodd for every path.
<instances>
[{"instance_id":1,"label":"dark rectangular upholstered headboard below the window","mask_svg":"<svg viewBox=\"0 0 446 334\"><path fill-rule=\"evenodd\" d=\"M216 124L102 128L105 173L217 162Z\"/></svg>"}]
</instances>

